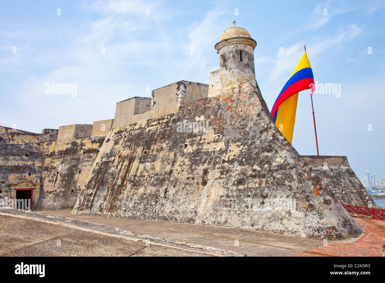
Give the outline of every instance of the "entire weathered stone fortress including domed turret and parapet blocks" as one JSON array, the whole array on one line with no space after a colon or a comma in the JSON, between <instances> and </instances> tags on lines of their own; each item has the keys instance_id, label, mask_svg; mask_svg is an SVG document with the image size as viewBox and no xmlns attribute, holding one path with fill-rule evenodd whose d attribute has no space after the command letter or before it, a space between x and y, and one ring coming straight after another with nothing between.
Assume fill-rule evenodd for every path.
<instances>
[{"instance_id":1,"label":"entire weathered stone fortress including domed turret and parapet blocks","mask_svg":"<svg viewBox=\"0 0 385 283\"><path fill-rule=\"evenodd\" d=\"M161 87L93 124L41 134L0 127L0 196L15 198L17 181L29 180L34 209L317 239L363 233L340 202L373 199L346 157L301 156L278 131L255 80L256 42L233 23L215 45L209 85ZM207 131L177 131L185 121ZM276 198L296 199L296 209L266 210Z\"/></svg>"}]
</instances>

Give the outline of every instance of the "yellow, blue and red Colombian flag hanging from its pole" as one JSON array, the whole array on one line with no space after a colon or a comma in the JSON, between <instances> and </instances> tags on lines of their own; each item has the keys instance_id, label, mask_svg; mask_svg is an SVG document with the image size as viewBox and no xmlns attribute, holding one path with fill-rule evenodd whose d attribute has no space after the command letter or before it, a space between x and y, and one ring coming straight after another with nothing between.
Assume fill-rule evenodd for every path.
<instances>
[{"instance_id":1,"label":"yellow, blue and red Colombian flag hanging from its pole","mask_svg":"<svg viewBox=\"0 0 385 283\"><path fill-rule=\"evenodd\" d=\"M271 109L271 117L273 117L275 126L277 126L290 143L293 140L298 92L311 89L313 85L313 71L311 70L305 50L293 74L291 74L290 79L281 90L277 100L275 100L273 109Z\"/></svg>"}]
</instances>

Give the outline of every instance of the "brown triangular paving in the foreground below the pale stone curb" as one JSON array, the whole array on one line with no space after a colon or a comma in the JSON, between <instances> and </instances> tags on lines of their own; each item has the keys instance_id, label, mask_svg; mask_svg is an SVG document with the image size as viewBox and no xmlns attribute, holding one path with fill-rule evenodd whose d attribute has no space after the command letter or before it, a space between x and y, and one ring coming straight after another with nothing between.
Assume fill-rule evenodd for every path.
<instances>
[{"instance_id":1,"label":"brown triangular paving in the foreground below the pale stone curb","mask_svg":"<svg viewBox=\"0 0 385 283\"><path fill-rule=\"evenodd\" d=\"M0 256L212 256L85 231L31 217L0 214Z\"/></svg>"}]
</instances>

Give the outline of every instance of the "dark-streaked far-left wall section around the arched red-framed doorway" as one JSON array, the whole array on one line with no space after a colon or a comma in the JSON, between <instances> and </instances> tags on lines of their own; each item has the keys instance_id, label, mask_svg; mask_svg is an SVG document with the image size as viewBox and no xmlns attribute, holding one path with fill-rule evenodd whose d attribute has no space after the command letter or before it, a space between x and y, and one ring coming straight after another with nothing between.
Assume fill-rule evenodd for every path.
<instances>
[{"instance_id":1,"label":"dark-streaked far-left wall section around the arched red-framed doorway","mask_svg":"<svg viewBox=\"0 0 385 283\"><path fill-rule=\"evenodd\" d=\"M0 126L0 198L14 198L10 195L8 184L22 179L40 183L43 141L48 138ZM36 207L39 193L39 189L33 190L32 208Z\"/></svg>"}]
</instances>

